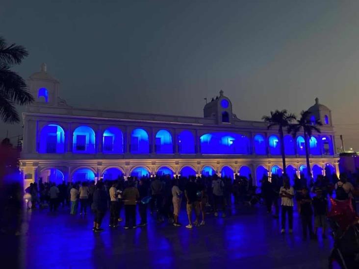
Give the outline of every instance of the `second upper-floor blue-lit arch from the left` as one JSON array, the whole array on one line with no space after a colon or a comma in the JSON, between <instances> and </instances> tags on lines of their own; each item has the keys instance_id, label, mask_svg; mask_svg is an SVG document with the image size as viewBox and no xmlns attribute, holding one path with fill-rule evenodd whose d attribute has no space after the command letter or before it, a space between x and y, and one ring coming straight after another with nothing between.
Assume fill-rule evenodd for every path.
<instances>
[{"instance_id":1,"label":"second upper-floor blue-lit arch from the left","mask_svg":"<svg viewBox=\"0 0 359 269\"><path fill-rule=\"evenodd\" d=\"M89 126L78 126L74 131L74 153L95 153L95 132Z\"/></svg>"}]
</instances>

